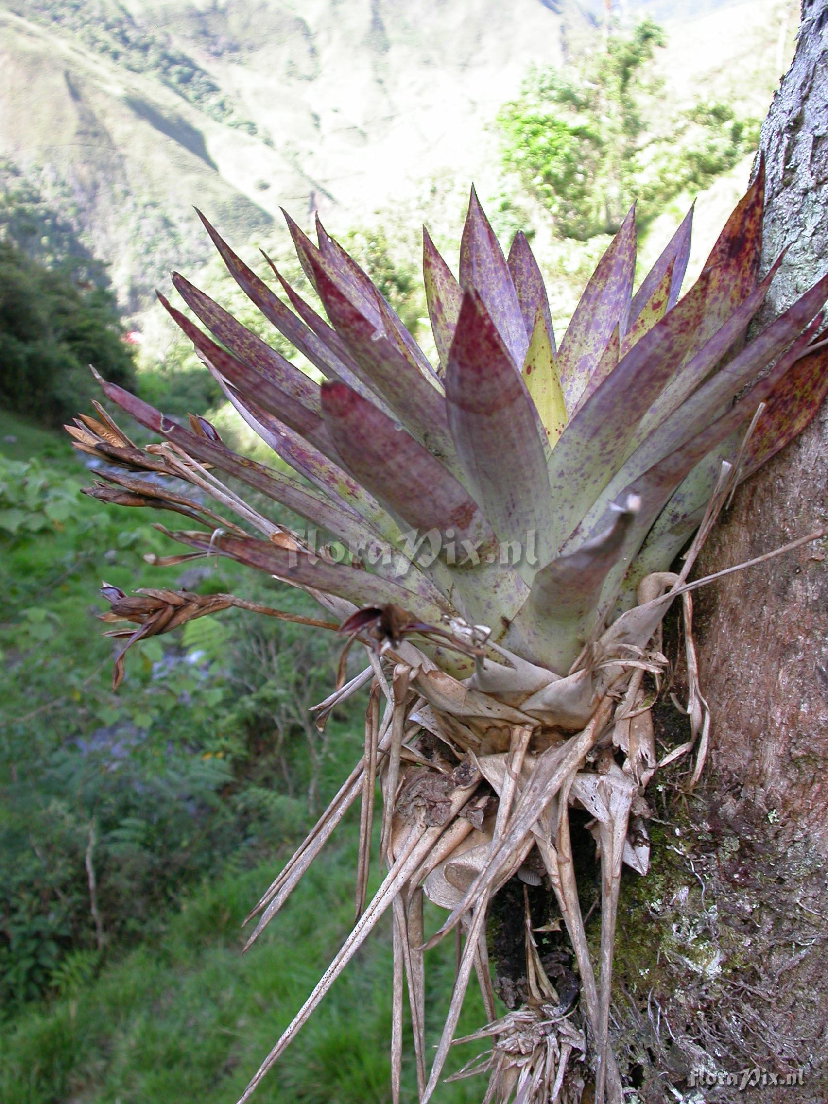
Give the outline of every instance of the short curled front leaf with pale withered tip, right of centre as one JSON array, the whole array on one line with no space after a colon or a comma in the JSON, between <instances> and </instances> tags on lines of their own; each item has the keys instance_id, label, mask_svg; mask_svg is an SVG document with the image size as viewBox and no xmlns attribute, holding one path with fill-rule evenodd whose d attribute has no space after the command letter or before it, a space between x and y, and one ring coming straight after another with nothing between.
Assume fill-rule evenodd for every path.
<instances>
[{"instance_id":1,"label":"short curled front leaf with pale withered tip, right of centre","mask_svg":"<svg viewBox=\"0 0 828 1104\"><path fill-rule=\"evenodd\" d=\"M507 647L522 644L553 671L565 675L570 670L596 627L604 581L618 561L638 507L637 498L630 496L604 532L538 572L509 629Z\"/></svg>"}]
</instances>

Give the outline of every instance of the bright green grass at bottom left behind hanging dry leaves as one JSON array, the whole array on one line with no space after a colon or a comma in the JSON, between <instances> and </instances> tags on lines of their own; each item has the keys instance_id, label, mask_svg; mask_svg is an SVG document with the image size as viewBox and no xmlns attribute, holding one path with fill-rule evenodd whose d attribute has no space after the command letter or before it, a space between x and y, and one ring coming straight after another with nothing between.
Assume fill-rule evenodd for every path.
<instances>
[{"instance_id":1,"label":"bright green grass at bottom left behind hanging dry leaves","mask_svg":"<svg viewBox=\"0 0 828 1104\"><path fill-rule=\"evenodd\" d=\"M273 867L244 872L231 867L200 887L158 942L127 954L83 991L31 1008L6 1026L0 1045L3 1104L236 1100L348 931L354 858L351 827L244 957L238 927L272 879ZM440 946L427 959L432 1043L450 986L449 956L450 947ZM256 1098L262 1104L386 1101L390 983L390 928L384 923ZM475 994L458 1033L480 1025L482 1015ZM413 1100L411 1063L405 1081L404 1100ZM444 1086L438 1100L465 1104L479 1094L480 1083L470 1080Z\"/></svg>"}]
</instances>

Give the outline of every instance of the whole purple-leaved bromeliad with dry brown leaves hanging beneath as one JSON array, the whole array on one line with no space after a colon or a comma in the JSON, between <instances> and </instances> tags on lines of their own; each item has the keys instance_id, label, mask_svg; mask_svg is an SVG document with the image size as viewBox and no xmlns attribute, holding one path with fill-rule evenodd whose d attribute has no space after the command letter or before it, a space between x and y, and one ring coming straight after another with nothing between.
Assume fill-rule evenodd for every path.
<instances>
[{"instance_id":1,"label":"whole purple-leaved bromeliad with dry brown leaves hanging beneath","mask_svg":"<svg viewBox=\"0 0 828 1104\"><path fill-rule=\"evenodd\" d=\"M327 321L274 268L286 305L204 220L238 285L321 384L182 276L173 284L212 337L162 302L227 400L296 477L234 454L203 418L174 423L103 380L106 397L161 442L137 447L98 404L96 417L68 427L78 448L112 465L89 493L166 507L205 527L171 533L193 551L170 560L221 554L299 586L327 611L329 620L318 624L339 625L368 652L365 670L320 705L323 718L370 681L363 755L251 913L258 923L247 945L359 799L355 926L243 1100L391 909L393 1100L404 979L425 1102L475 970L490 1022L474 1038L490 1049L464 1072L489 1072L487 1102L574 1102L587 1082L599 1104L620 1101L607 1042L612 951L622 863L645 873L648 862L643 794L661 764L644 680L665 664L660 623L680 595L688 711L700 737L694 781L708 715L688 573L735 484L803 428L828 390L819 316L828 277L746 340L775 272L757 279L762 212L760 171L682 298L691 216L633 294L630 212L559 346L527 238L518 234L506 257L473 192L459 278L424 235L436 364L321 225L314 244L288 219ZM172 477L199 493L124 469ZM269 521L216 470L331 534L349 550L347 562ZM693 532L680 573L671 573ZM241 601L163 591L107 596L106 619L138 626L116 630L126 647ZM365 906L376 781L388 873ZM573 808L593 818L601 857L596 964L578 904ZM496 1019L485 922L513 875L545 878L554 890L581 992L577 1001L556 995L527 920L527 999ZM429 938L424 895L448 910ZM424 951L453 928L465 932L465 944L428 1069Z\"/></svg>"}]
</instances>

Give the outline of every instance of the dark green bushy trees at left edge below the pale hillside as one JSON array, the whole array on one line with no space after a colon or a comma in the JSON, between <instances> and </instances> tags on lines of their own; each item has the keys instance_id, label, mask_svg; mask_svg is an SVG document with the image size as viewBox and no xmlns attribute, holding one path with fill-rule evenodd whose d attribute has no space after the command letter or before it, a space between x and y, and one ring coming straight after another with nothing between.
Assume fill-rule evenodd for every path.
<instances>
[{"instance_id":1,"label":"dark green bushy trees at left edge below the pale hillside","mask_svg":"<svg viewBox=\"0 0 828 1104\"><path fill-rule=\"evenodd\" d=\"M91 363L118 383L132 380L114 297L78 279L75 258L49 269L0 242L0 404L57 425L96 390Z\"/></svg>"}]
</instances>

